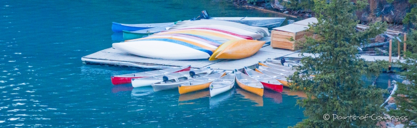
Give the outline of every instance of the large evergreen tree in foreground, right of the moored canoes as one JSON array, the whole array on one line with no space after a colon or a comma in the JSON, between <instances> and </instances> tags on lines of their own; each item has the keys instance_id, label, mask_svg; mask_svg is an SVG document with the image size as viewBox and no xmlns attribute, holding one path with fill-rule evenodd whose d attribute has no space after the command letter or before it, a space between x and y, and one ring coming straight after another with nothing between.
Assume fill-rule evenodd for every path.
<instances>
[{"instance_id":1,"label":"large evergreen tree in foreground, right of the moored canoes","mask_svg":"<svg viewBox=\"0 0 417 128\"><path fill-rule=\"evenodd\" d=\"M357 54L360 44L383 33L386 24L375 23L365 32L357 32L359 21L355 12L366 4L364 0L314 0L312 10L318 23L311 27L320 39L308 38L303 42L304 66L289 77L293 90L307 94L297 103L305 108L308 118L294 127L376 127L378 120L353 116L383 116L384 109L379 106L383 90L364 85L361 80L364 74L379 73L381 65L367 63ZM325 114L329 115L328 120L324 119ZM336 115L353 116L333 120Z\"/></svg>"}]
</instances>

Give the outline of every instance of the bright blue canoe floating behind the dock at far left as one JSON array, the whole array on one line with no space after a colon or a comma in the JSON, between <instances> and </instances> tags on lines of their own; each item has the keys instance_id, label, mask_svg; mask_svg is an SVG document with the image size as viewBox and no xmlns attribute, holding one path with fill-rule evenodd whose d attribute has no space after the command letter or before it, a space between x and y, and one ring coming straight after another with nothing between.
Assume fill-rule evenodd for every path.
<instances>
[{"instance_id":1,"label":"bright blue canoe floating behind the dock at far left","mask_svg":"<svg viewBox=\"0 0 417 128\"><path fill-rule=\"evenodd\" d=\"M113 32L123 32L123 30L137 31L137 30L150 29L150 28L155 28L155 27L160 27L160 26L166 26L170 24L174 24L174 22L155 23L155 24L120 24L120 23L113 22L113 24L111 25L111 30Z\"/></svg>"}]
</instances>

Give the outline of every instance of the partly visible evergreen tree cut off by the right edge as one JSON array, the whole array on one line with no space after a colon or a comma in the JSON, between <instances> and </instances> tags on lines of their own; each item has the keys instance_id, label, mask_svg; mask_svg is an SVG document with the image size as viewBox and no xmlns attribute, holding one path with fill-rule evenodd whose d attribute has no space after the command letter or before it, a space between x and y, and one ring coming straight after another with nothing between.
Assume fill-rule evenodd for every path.
<instances>
[{"instance_id":1,"label":"partly visible evergreen tree cut off by the right edge","mask_svg":"<svg viewBox=\"0 0 417 128\"><path fill-rule=\"evenodd\" d=\"M417 4L415 0L408 1L412 6ZM404 24L415 25L417 23L417 8L405 15ZM398 82L398 90L393 95L398 109L389 111L392 116L408 116L402 120L405 127L417 127L417 31L415 28L407 35L407 52L404 63L398 63L404 69L400 75L408 81L407 84Z\"/></svg>"}]
</instances>

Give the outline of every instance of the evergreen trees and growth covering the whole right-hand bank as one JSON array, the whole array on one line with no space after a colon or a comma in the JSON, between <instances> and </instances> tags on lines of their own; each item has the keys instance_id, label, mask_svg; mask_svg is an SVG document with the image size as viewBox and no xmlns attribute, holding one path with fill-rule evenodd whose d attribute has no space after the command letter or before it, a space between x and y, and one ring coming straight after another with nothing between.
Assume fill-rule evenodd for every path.
<instances>
[{"instance_id":1,"label":"evergreen trees and growth covering the whole right-hand bank","mask_svg":"<svg viewBox=\"0 0 417 128\"><path fill-rule=\"evenodd\" d=\"M313 53L315 58L303 56L291 80L292 90L303 91L306 98L297 104L304 107L306 119L294 127L417 127L417 1L365 1L365 0L232 0L235 6L276 12L284 16L297 15L303 18L316 17L318 23L310 25L310 30L320 38L307 38L296 42L303 46L301 55ZM293 16L290 16L293 17ZM294 18L294 17L293 17ZM369 25L363 31L357 24ZM388 29L400 31L399 35L383 39ZM407 34L408 33L408 34ZM404 34L409 35L405 41ZM398 38L401 36L400 38ZM369 44L370 40L402 42L395 45L398 50L391 55L401 56L405 62L365 62L360 59L358 47ZM379 41L377 41L379 42ZM393 42L392 44L397 44ZM391 41L390 41L391 44ZM391 50L391 48L390 48ZM406 51L406 52L405 52ZM343 53L343 54L340 54ZM401 65L399 73L404 79L394 82L398 90L388 105L381 105L384 89L361 82L361 75L377 76L388 65ZM314 77L311 77L314 76ZM304 89L300 89L304 88ZM359 115L373 113L380 117L406 116L407 119L379 120L328 120L326 114ZM290 126L291 127L291 126Z\"/></svg>"}]
</instances>

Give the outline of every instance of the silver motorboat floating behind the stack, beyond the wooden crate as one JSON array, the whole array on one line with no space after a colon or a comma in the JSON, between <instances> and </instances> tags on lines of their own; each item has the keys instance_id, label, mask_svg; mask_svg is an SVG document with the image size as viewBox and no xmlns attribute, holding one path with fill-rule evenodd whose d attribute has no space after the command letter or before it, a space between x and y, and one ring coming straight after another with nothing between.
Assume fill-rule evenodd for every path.
<instances>
[{"instance_id":1,"label":"silver motorboat floating behind the stack, beyond the wooden crate","mask_svg":"<svg viewBox=\"0 0 417 128\"><path fill-rule=\"evenodd\" d=\"M280 27L283 24L285 18L264 18L264 17L211 17L210 19L201 20L219 20L236 22L254 27Z\"/></svg>"}]
</instances>

